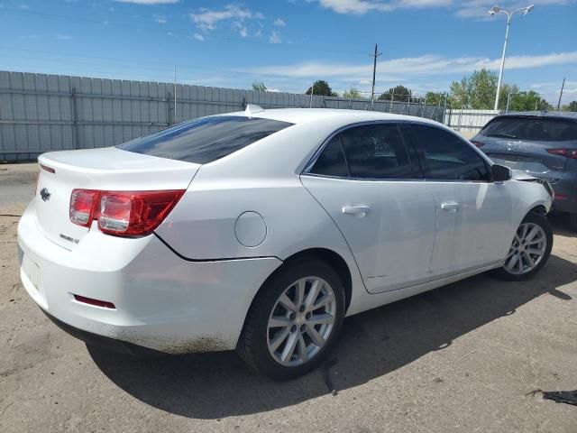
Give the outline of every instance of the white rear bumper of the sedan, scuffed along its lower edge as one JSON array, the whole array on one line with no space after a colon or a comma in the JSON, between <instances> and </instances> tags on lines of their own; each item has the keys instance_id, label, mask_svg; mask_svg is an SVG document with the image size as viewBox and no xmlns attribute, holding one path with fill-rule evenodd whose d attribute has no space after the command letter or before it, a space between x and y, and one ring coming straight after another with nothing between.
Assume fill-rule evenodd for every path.
<instances>
[{"instance_id":1,"label":"white rear bumper of the sedan, scuffed along its lower edge","mask_svg":"<svg viewBox=\"0 0 577 433\"><path fill-rule=\"evenodd\" d=\"M18 225L23 287L72 330L179 354L234 349L276 258L188 262L155 235L125 239L91 230L69 251L39 230L33 203ZM112 302L107 309L74 295ZM78 332L70 332L78 336Z\"/></svg>"}]
</instances>

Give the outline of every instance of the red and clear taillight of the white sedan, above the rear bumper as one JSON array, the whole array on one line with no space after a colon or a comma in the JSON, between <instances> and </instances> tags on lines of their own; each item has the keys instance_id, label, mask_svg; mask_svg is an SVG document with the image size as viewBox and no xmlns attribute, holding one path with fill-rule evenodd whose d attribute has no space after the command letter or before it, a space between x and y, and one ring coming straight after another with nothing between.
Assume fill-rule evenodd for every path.
<instances>
[{"instance_id":1,"label":"red and clear taillight of the white sedan, above the rear bumper","mask_svg":"<svg viewBox=\"0 0 577 433\"><path fill-rule=\"evenodd\" d=\"M169 214L184 189L165 191L100 191L74 189L70 196L70 221L89 227L98 221L109 235L148 235Z\"/></svg>"}]
</instances>

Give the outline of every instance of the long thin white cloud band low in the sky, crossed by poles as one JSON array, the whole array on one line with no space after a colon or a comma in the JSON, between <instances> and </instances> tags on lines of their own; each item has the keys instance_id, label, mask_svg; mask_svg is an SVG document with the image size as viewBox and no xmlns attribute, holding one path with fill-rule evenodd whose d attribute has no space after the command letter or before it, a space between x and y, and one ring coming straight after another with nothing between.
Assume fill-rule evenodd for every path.
<instances>
[{"instance_id":1,"label":"long thin white cloud band low in the sky, crossed by poles","mask_svg":"<svg viewBox=\"0 0 577 433\"><path fill-rule=\"evenodd\" d=\"M271 41L271 43L273 42ZM468 73L482 68L498 69L499 62L499 59L492 60L482 57L446 58L427 54L420 57L380 61L377 63L377 72L381 79L388 79L387 76L398 77L399 74L402 74L405 78L410 76L427 77L435 74ZM506 69L531 69L573 63L577 63L577 51L537 56L510 56L506 62ZM333 77L357 80L367 77L370 67L371 65L369 64L310 61L246 70L257 74L290 78Z\"/></svg>"}]
</instances>

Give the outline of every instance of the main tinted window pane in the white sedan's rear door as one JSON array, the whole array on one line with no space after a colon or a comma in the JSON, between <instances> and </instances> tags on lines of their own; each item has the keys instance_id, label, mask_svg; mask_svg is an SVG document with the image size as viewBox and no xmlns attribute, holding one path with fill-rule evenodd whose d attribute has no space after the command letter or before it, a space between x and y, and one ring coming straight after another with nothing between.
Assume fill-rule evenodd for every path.
<instances>
[{"instance_id":1,"label":"main tinted window pane in the white sedan's rear door","mask_svg":"<svg viewBox=\"0 0 577 433\"><path fill-rule=\"evenodd\" d=\"M405 179L412 176L408 152L396 124L355 126L340 134L351 176Z\"/></svg>"}]
</instances>

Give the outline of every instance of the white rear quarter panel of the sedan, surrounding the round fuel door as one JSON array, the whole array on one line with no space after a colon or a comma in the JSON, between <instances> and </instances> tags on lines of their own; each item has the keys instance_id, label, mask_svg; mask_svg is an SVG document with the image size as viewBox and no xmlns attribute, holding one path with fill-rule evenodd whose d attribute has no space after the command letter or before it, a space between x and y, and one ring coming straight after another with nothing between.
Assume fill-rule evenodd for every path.
<instances>
[{"instance_id":1,"label":"white rear quarter panel of the sedan, surrounding the round fuel door","mask_svg":"<svg viewBox=\"0 0 577 433\"><path fill-rule=\"evenodd\" d=\"M156 234L192 261L247 257L284 261L310 248L325 248L347 263L352 302L368 295L343 235L299 179L317 147L342 124L336 119L297 124L203 165ZM256 212L264 220L266 236L261 244L239 242L235 225L244 212Z\"/></svg>"}]
</instances>

